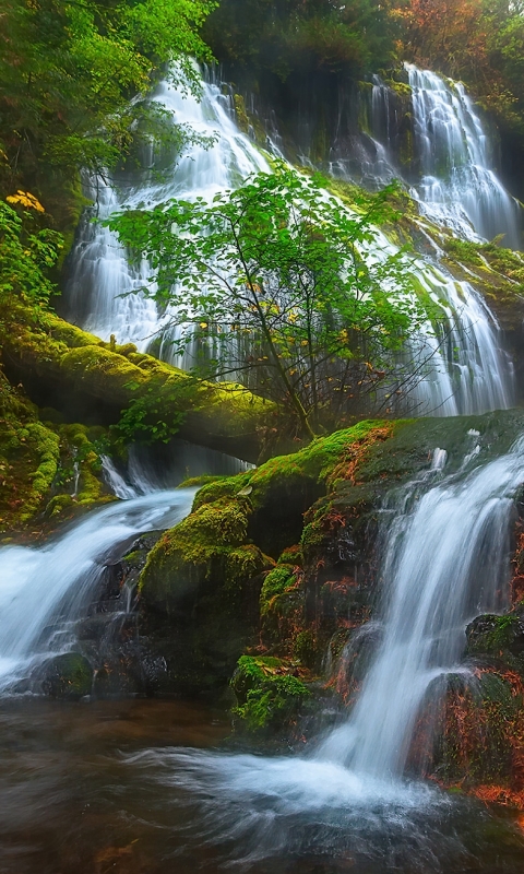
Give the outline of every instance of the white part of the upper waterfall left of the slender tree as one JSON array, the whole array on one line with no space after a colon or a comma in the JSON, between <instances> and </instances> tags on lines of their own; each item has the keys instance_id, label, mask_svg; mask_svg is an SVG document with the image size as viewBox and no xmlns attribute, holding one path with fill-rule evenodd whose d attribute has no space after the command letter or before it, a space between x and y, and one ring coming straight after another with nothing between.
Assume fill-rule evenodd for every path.
<instances>
[{"instance_id":1,"label":"white part of the upper waterfall left of the slender tree","mask_svg":"<svg viewBox=\"0 0 524 874\"><path fill-rule=\"evenodd\" d=\"M86 181L86 194L96 197L96 214L105 218L127 206L159 203L168 198L207 201L226 188L235 188L250 173L270 170L261 152L233 120L230 98L219 84L202 82L202 101L182 94L168 81L158 85L153 99L172 113L175 123L190 126L213 146L194 146L188 156L163 172L164 181L151 175L135 186L109 185L103 179ZM93 211L84 217L82 232L72 256L72 275L67 292L66 315L104 340L115 334L119 343L133 342L145 351L169 322L169 314L159 314L156 304L133 294L147 283L147 264L130 265L117 236L99 224L92 224Z\"/></svg>"}]
</instances>

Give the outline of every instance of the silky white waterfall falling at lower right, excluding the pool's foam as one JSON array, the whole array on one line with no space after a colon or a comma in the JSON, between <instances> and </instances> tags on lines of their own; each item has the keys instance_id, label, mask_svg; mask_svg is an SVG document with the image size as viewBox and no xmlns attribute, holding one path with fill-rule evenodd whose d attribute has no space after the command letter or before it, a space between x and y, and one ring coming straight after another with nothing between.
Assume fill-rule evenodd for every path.
<instances>
[{"instance_id":1,"label":"silky white waterfall falling at lower right, excluding the pool's foam","mask_svg":"<svg viewBox=\"0 0 524 874\"><path fill-rule=\"evenodd\" d=\"M321 758L382 779L402 776L428 687L461 670L467 622L508 607L501 582L523 450L520 439L464 481L451 475L422 495L412 484L404 511L388 515L383 640L350 719L324 741Z\"/></svg>"}]
</instances>

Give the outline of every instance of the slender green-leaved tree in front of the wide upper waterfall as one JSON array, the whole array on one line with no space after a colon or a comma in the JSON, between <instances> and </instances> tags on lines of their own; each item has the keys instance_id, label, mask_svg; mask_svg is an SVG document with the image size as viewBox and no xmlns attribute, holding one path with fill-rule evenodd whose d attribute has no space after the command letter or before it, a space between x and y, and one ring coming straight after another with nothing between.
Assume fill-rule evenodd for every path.
<instances>
[{"instance_id":1,"label":"slender green-leaved tree in front of the wide upper waterfall","mask_svg":"<svg viewBox=\"0 0 524 874\"><path fill-rule=\"evenodd\" d=\"M211 204L170 200L107 224L148 260L145 293L172 307L175 351L199 340L201 375L235 374L313 436L385 385L427 318L404 253L371 253L386 193L352 213L319 177L279 165Z\"/></svg>"}]
</instances>

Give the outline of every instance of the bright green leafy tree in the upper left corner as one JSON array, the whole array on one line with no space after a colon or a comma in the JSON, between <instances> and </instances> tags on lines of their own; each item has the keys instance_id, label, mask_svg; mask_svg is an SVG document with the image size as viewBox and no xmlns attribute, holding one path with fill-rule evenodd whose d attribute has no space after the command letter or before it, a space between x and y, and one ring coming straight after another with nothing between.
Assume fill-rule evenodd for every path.
<instances>
[{"instance_id":1,"label":"bright green leafy tree in the upper left corner","mask_svg":"<svg viewBox=\"0 0 524 874\"><path fill-rule=\"evenodd\" d=\"M169 121L148 102L166 64L199 90L191 57L214 0L5 0L0 13L0 188L46 202L79 168L115 166ZM187 132L171 127L179 144ZM46 203L46 206L48 203Z\"/></svg>"}]
</instances>

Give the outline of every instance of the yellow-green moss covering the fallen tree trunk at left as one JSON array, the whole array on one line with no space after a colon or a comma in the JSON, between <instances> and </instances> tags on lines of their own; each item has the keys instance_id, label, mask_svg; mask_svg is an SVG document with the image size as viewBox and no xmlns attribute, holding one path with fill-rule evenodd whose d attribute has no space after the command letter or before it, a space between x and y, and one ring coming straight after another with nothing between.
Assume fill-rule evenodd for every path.
<instances>
[{"instance_id":1,"label":"yellow-green moss covering the fallen tree trunk at left","mask_svg":"<svg viewBox=\"0 0 524 874\"><path fill-rule=\"evenodd\" d=\"M255 454L258 430L267 428L277 415L274 403L238 383L198 380L151 356L139 355L132 344L103 343L51 312L35 312L15 300L1 315L4 353L19 362L24 373L34 369L39 380L47 381L47 388L61 397L74 392L76 403L83 399L92 415L98 414L98 408L106 411L104 418L116 418L117 411L124 411L124 424L130 426L139 420L155 439L165 439L172 427L186 427L188 415L188 438L199 441L199 435L210 434L214 446L223 439L231 449L237 448L231 438L251 441L251 453Z\"/></svg>"}]
</instances>

